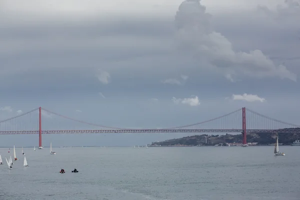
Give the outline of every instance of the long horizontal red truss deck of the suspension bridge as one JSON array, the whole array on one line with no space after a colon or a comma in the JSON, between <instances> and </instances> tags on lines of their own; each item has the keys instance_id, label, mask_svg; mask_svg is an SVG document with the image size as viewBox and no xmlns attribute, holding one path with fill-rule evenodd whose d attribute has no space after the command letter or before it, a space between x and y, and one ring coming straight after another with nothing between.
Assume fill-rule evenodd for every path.
<instances>
[{"instance_id":1,"label":"long horizontal red truss deck of the suspension bridge","mask_svg":"<svg viewBox=\"0 0 300 200\"><path fill-rule=\"evenodd\" d=\"M162 133L162 132L242 132L242 129L99 129L99 130L42 130L42 134L63 133ZM250 132L300 132L300 128L288 129L247 129ZM38 134L38 130L0 131L0 134Z\"/></svg>"}]
</instances>

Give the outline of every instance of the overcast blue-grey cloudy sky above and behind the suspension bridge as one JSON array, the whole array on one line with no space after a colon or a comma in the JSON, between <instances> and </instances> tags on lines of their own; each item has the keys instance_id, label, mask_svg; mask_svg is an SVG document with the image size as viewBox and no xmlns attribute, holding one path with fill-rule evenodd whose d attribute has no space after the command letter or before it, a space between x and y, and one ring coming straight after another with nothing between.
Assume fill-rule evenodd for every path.
<instances>
[{"instance_id":1,"label":"overcast blue-grey cloudy sky above and behind the suspension bridge","mask_svg":"<svg viewBox=\"0 0 300 200\"><path fill-rule=\"evenodd\" d=\"M172 127L245 106L298 124L299 17L299 0L1 0L0 119L42 106L107 126ZM44 141L62 145L57 136ZM31 145L36 135L1 137Z\"/></svg>"}]
</instances>

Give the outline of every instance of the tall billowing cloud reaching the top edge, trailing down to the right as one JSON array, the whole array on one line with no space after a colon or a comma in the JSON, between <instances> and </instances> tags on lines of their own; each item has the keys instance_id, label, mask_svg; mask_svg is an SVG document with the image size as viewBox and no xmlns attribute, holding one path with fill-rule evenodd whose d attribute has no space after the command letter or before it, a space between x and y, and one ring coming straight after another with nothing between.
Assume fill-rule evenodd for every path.
<instances>
[{"instance_id":1,"label":"tall billowing cloud reaching the top edge, trailing down to the right","mask_svg":"<svg viewBox=\"0 0 300 200\"><path fill-rule=\"evenodd\" d=\"M296 81L296 74L284 65L275 65L259 49L249 52L234 51L232 43L213 30L211 15L199 0L183 1L175 15L178 47L192 54L199 61L206 60L211 69L224 73L227 79L233 75L249 77L279 77ZM200 65L200 64L199 64Z\"/></svg>"}]
</instances>

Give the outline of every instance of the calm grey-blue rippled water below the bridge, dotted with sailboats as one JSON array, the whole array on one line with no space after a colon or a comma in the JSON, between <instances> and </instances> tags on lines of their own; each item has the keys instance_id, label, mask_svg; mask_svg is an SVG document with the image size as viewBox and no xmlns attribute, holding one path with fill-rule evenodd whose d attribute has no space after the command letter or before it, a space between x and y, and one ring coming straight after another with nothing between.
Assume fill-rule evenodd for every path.
<instances>
[{"instance_id":1,"label":"calm grey-blue rippled water below the bridge, dotted with sailboats","mask_svg":"<svg viewBox=\"0 0 300 200\"><path fill-rule=\"evenodd\" d=\"M7 150L1 200L300 198L300 146L280 146L285 156L273 156L273 146L24 148L29 167L16 148L13 170Z\"/></svg>"}]
</instances>

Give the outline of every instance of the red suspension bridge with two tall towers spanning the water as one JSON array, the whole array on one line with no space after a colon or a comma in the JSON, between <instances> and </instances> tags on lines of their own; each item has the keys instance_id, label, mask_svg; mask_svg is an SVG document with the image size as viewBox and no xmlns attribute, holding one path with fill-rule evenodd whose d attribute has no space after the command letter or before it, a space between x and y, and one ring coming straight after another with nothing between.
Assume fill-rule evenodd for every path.
<instances>
[{"instance_id":1,"label":"red suspension bridge with two tall towers spanning the water","mask_svg":"<svg viewBox=\"0 0 300 200\"><path fill-rule=\"evenodd\" d=\"M0 134L38 134L39 147L42 146L42 134L146 132L241 132L242 143L246 144L246 132L300 132L300 125L274 119L245 107L210 120L168 128L111 127L74 119L42 107L0 120Z\"/></svg>"}]
</instances>

